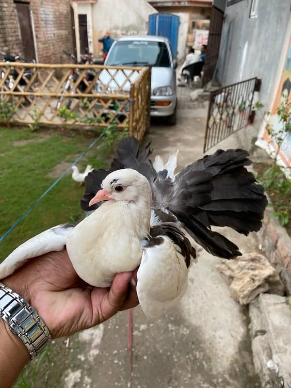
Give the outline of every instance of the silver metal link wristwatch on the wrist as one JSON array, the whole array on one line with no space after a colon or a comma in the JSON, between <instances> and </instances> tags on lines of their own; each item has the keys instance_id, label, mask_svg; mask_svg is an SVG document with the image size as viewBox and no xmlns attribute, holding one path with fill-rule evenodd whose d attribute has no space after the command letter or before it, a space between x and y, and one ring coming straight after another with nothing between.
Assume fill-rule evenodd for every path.
<instances>
[{"instance_id":1,"label":"silver metal link wristwatch on the wrist","mask_svg":"<svg viewBox=\"0 0 291 388\"><path fill-rule=\"evenodd\" d=\"M51 340L43 320L21 296L0 283L0 317L27 347L31 358L38 356Z\"/></svg>"}]
</instances>

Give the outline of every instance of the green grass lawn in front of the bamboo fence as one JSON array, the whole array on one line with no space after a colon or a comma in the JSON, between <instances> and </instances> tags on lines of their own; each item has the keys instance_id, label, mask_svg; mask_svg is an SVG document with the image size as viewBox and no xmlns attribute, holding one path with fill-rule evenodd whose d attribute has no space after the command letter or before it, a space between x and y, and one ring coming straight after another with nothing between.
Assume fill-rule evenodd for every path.
<instances>
[{"instance_id":1,"label":"green grass lawn in front of the bamboo fence","mask_svg":"<svg viewBox=\"0 0 291 388\"><path fill-rule=\"evenodd\" d=\"M57 130L0 128L0 236L58 178L48 176L52 169L62 162L74 162L93 140L71 131L66 135ZM107 151L104 143L100 146L97 142L78 167L83 169L87 163L106 167ZM21 242L50 226L79 219L83 193L84 186L66 175L0 242L0 261Z\"/></svg>"}]
</instances>

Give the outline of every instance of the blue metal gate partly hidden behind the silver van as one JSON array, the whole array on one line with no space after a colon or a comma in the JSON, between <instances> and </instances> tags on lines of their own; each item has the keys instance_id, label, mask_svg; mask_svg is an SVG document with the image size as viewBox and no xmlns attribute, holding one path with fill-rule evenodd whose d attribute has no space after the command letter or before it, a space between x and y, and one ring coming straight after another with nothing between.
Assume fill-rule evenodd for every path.
<instances>
[{"instance_id":1,"label":"blue metal gate partly hidden behind the silver van","mask_svg":"<svg viewBox=\"0 0 291 388\"><path fill-rule=\"evenodd\" d=\"M179 16L172 14L152 14L148 16L148 34L168 38L174 57L178 49Z\"/></svg>"}]
</instances>

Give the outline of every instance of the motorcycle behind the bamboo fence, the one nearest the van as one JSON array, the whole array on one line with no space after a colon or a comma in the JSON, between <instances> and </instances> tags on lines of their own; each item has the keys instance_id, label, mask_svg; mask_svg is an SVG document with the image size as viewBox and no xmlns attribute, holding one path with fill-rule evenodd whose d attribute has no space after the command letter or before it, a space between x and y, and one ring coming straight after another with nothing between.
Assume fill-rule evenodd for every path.
<instances>
[{"instance_id":1,"label":"motorcycle behind the bamboo fence, the one nearest the van","mask_svg":"<svg viewBox=\"0 0 291 388\"><path fill-rule=\"evenodd\" d=\"M88 64L93 64L93 63L95 63L95 62L93 62L93 56L92 56L92 54L83 54L83 55L81 56L80 61L78 62L78 60L77 60L77 58L75 57L75 55L73 55L73 54L71 54L71 53L69 53L68 51L65 51L65 50L63 50L63 53L64 53L65 55L67 55L68 57L70 57L70 58L75 62L75 64L79 64L79 65L88 65ZM95 77L94 72L88 70L88 71L86 72L86 75L85 75L84 79L81 80L81 81L78 83L76 89L79 90L81 93L85 93L85 92L86 92L86 89L87 89L87 87L88 87L88 83L90 83L91 81L93 81L93 80L94 80L94 77ZM79 79L79 69L78 69L78 67L77 67L76 69L72 70L72 72L71 72L70 75L69 75L68 80L67 80L66 83L65 83L65 91L66 91L67 93L69 93L70 90L73 89L74 83L76 83L76 82L78 81L78 79ZM76 90L76 89L73 90L72 94L76 94L76 93L77 93L77 90ZM62 93L64 93L64 92L62 92ZM64 99L65 99L65 97L61 97L61 98L59 99L59 101L57 102L57 106L56 106L57 109L59 109L59 108L61 107L62 102L64 101ZM65 103L65 107L66 107L67 109L70 109L71 104L72 104L72 99L69 98L69 99L66 101L66 103Z\"/></svg>"}]
</instances>

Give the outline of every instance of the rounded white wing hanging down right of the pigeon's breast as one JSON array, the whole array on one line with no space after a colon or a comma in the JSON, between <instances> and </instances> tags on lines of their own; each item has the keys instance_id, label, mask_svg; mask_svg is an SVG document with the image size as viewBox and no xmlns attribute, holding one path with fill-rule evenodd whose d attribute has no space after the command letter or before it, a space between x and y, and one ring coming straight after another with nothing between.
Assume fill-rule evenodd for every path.
<instances>
[{"instance_id":1,"label":"rounded white wing hanging down right of the pigeon's breast","mask_svg":"<svg viewBox=\"0 0 291 388\"><path fill-rule=\"evenodd\" d=\"M179 247L170 238L147 247L137 271L137 295L150 321L175 307L187 289L188 269Z\"/></svg>"}]
</instances>

